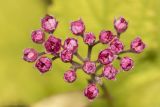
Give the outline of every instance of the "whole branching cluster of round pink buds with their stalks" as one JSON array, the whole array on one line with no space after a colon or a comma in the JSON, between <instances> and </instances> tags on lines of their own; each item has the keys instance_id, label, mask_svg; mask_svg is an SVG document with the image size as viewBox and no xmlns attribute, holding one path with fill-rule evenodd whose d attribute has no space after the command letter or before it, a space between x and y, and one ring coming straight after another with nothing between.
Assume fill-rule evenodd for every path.
<instances>
[{"instance_id":1,"label":"whole branching cluster of round pink buds with their stalks","mask_svg":"<svg viewBox=\"0 0 160 107\"><path fill-rule=\"evenodd\" d=\"M77 70L82 69L84 73L90 75L88 86L84 90L84 95L93 100L99 94L97 85L102 85L102 78L115 80L116 75L122 71L129 71L134 66L132 58L125 56L124 53L141 53L145 44L140 37L136 37L130 44L130 49L124 49L124 44L120 40L120 36L128 28L128 22L120 17L114 20L114 28L116 33L110 30L102 30L99 34L99 40L93 32L86 32L85 24L82 19L71 22L70 30L73 35L83 38L83 41L88 46L86 58L81 57L78 52L78 40L75 38L67 38L64 43L53 33L58 26L58 21L55 17L46 15L41 20L41 28L31 33L31 39L36 44L41 44L45 50L38 52L33 48L26 48L23 51L23 59L27 62L35 62L35 67L40 73L46 73L51 70L52 62L60 58L64 63L70 63L71 67L64 73L64 80L68 83L73 83L77 79ZM46 37L48 36L48 38ZM106 48L99 52L97 60L91 60L92 48L97 44L106 45ZM47 57L51 54L52 58ZM74 61L77 57L81 63ZM114 60L119 60L120 68L117 69L113 65ZM102 69L102 72L97 71Z\"/></svg>"}]
</instances>

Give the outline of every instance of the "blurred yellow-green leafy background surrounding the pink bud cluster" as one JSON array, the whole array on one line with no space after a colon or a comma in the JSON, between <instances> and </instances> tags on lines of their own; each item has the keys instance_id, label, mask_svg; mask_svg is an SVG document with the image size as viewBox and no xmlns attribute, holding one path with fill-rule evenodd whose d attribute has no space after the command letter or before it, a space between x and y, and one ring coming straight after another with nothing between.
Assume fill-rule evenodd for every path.
<instances>
[{"instance_id":1,"label":"blurred yellow-green leafy background surrounding the pink bud cluster","mask_svg":"<svg viewBox=\"0 0 160 107\"><path fill-rule=\"evenodd\" d=\"M160 0L0 0L0 106L28 107L61 93L81 90L82 94L87 85L88 76L81 71L75 83L65 83L63 73L69 64L60 60L53 62L52 71L45 75L22 60L22 50L26 47L43 51L41 45L32 43L30 33L40 28L40 19L49 13L60 21L54 34L63 40L73 36L69 22L79 17L84 20L87 31L94 32L97 38L102 29L114 31L114 17L124 16L129 20L129 28L122 35L126 49L137 35L143 38L147 48L139 55L128 54L135 60L131 72L122 72L117 81L105 83L115 107L160 107L159 6ZM82 43L81 38L79 41ZM92 59L103 48L97 46ZM84 57L86 50L87 46L80 44L79 52ZM88 103L87 99L82 103ZM107 107L107 103L97 99L91 106Z\"/></svg>"}]
</instances>

